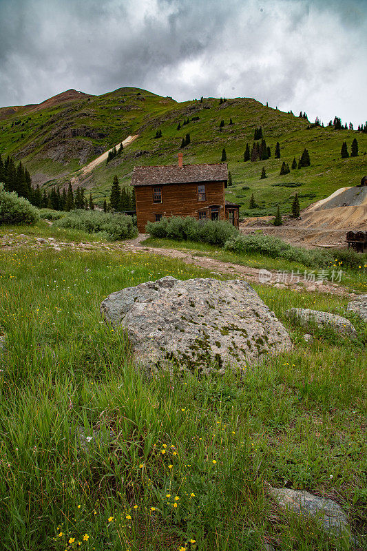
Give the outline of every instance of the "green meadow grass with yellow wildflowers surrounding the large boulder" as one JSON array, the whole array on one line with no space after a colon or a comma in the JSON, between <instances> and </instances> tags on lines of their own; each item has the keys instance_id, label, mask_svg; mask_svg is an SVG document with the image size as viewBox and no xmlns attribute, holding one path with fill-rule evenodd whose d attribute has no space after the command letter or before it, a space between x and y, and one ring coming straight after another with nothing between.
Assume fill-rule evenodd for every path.
<instances>
[{"instance_id":1,"label":"green meadow grass with yellow wildflowers surrounding the large boulder","mask_svg":"<svg viewBox=\"0 0 367 551\"><path fill-rule=\"evenodd\" d=\"M335 499L363 545L364 324L348 315L355 342L311 329L306 344L284 316L291 306L345 315L346 300L258 286L293 352L224 377L152 379L125 333L103 323L101 300L208 271L117 251L13 249L0 263L2 549L335 549L316 523L277 510L266 484ZM100 444L78 448L80 427L100 430Z\"/></svg>"}]
</instances>

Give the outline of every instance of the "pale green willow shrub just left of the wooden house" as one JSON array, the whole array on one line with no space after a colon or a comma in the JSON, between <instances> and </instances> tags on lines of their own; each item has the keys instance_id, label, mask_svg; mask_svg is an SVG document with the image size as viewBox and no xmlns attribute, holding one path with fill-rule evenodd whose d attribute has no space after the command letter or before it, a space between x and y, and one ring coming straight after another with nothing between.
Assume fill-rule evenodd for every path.
<instances>
[{"instance_id":1,"label":"pale green willow shrub just left of the wooden house","mask_svg":"<svg viewBox=\"0 0 367 551\"><path fill-rule=\"evenodd\" d=\"M131 216L103 211L70 211L64 218L56 220L55 225L63 228L81 229L87 233L100 232L101 237L110 241L133 238L138 233Z\"/></svg>"}]
</instances>

